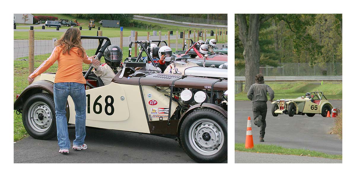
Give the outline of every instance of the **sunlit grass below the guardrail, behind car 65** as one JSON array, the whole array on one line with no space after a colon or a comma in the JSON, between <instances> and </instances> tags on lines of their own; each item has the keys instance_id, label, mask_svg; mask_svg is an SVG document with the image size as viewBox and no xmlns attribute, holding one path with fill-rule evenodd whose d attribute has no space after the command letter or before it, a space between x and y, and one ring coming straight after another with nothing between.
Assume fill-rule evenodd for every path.
<instances>
[{"instance_id":1,"label":"sunlit grass below the guardrail, behind car 65","mask_svg":"<svg viewBox=\"0 0 356 177\"><path fill-rule=\"evenodd\" d=\"M324 81L294 81L294 82L273 82L266 81L265 84L269 85L274 91L274 100L297 98L304 96L307 92L321 91L329 100L341 100L342 99L342 82ZM245 85L242 86L243 88ZM241 92L235 95L235 100L248 100L246 92Z\"/></svg>"}]
</instances>

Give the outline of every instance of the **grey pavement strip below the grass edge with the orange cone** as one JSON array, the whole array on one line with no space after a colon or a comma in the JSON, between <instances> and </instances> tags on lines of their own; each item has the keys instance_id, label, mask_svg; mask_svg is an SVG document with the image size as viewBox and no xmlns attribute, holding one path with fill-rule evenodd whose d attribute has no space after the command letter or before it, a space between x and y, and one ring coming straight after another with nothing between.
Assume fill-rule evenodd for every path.
<instances>
[{"instance_id":1,"label":"grey pavement strip below the grass edge with the orange cone","mask_svg":"<svg viewBox=\"0 0 356 177\"><path fill-rule=\"evenodd\" d=\"M235 163L342 163L342 160L236 151Z\"/></svg>"}]
</instances>

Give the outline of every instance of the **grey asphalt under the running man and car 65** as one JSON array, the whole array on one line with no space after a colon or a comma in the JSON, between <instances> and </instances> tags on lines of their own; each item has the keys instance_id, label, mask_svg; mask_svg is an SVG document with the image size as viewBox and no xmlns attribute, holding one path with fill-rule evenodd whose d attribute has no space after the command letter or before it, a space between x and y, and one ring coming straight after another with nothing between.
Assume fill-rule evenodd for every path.
<instances>
[{"instance_id":1,"label":"grey asphalt under the running man and car 65","mask_svg":"<svg viewBox=\"0 0 356 177\"><path fill-rule=\"evenodd\" d=\"M329 100L337 108L342 108L342 100ZM251 101L235 101L235 143L245 143L247 117L252 114ZM266 134L263 144L274 144L285 148L301 148L342 154L342 140L337 135L329 134L334 126L334 119L315 114L314 117L295 115L289 117L280 114L273 117L271 102L267 102ZM253 143L260 144L260 128L252 122Z\"/></svg>"}]
</instances>

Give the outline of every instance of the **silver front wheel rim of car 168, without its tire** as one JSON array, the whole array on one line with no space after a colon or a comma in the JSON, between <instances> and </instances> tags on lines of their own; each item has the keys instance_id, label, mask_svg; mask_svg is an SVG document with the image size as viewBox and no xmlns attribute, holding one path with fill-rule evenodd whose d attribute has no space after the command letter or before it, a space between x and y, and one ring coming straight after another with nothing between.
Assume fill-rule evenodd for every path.
<instances>
[{"instance_id":1,"label":"silver front wheel rim of car 168, without its tire","mask_svg":"<svg viewBox=\"0 0 356 177\"><path fill-rule=\"evenodd\" d=\"M189 128L189 143L202 155L216 154L224 144L220 125L210 119L199 119Z\"/></svg>"}]
</instances>

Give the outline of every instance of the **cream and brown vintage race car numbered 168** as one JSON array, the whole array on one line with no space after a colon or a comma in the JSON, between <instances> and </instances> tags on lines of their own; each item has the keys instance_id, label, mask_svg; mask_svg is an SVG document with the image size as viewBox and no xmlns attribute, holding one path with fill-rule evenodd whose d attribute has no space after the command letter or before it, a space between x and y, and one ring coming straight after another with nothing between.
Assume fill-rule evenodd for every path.
<instances>
[{"instance_id":1,"label":"cream and brown vintage race car numbered 168","mask_svg":"<svg viewBox=\"0 0 356 177\"><path fill-rule=\"evenodd\" d=\"M101 58L110 45L99 39L96 50ZM104 41L106 41L104 43ZM102 46L102 47L101 47ZM87 80L88 127L158 135L178 140L183 150L197 162L223 162L227 159L227 81L211 78L155 73L146 63L125 61L125 68L111 84L103 85L91 71ZM141 68L139 71L135 68ZM33 138L56 136L53 82L56 73L41 74L14 102L22 113L23 125ZM72 98L67 100L68 124L75 124ZM163 147L162 147L163 148Z\"/></svg>"}]
</instances>

